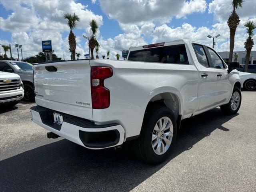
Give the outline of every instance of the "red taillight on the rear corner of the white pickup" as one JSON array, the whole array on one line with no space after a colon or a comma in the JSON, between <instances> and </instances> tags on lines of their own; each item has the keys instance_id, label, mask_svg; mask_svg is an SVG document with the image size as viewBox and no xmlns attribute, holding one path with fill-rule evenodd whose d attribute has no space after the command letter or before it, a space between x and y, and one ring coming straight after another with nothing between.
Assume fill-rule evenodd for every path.
<instances>
[{"instance_id":1,"label":"red taillight on the rear corner of the white pickup","mask_svg":"<svg viewBox=\"0 0 256 192\"><path fill-rule=\"evenodd\" d=\"M104 87L104 79L113 75L110 67L91 67L92 108L104 109L110 105L110 92Z\"/></svg>"}]
</instances>

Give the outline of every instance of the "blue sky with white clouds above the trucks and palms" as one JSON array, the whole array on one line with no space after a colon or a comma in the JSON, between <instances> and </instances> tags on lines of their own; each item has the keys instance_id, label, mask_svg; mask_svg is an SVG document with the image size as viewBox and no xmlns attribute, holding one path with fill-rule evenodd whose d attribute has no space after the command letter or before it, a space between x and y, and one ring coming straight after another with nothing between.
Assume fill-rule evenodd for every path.
<instances>
[{"instance_id":1,"label":"blue sky with white clouds above the trucks and palms","mask_svg":"<svg viewBox=\"0 0 256 192\"><path fill-rule=\"evenodd\" d=\"M152 3L153 2L153 3ZM58 56L69 55L69 30L62 18L64 12L76 12L82 18L78 28L77 52L88 52L82 34L90 35L88 22L96 19L100 25L97 39L100 55L110 50L111 57L120 49L180 38L211 44L208 34L221 34L216 40L217 51L226 50L229 29L226 25L231 13L231 0L174 0L174 1L10 1L0 0L0 43L22 44L25 56L39 52L41 40L52 40ZM246 0L238 14L241 23L256 20L256 1ZM243 50L246 34L240 24L236 32L235 50ZM2 50L0 50L2 52Z\"/></svg>"}]
</instances>

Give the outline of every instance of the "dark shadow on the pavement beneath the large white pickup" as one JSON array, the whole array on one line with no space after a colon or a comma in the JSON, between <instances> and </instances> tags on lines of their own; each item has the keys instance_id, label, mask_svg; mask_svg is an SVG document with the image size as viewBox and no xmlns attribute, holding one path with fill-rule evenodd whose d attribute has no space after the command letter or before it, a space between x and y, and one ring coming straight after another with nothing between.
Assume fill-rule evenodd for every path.
<instances>
[{"instance_id":1,"label":"dark shadow on the pavement beneath the large white pickup","mask_svg":"<svg viewBox=\"0 0 256 192\"><path fill-rule=\"evenodd\" d=\"M34 148L0 162L0 191L130 191L222 124L234 118L219 108L182 121L172 155L150 165L140 161L131 145L88 150L68 140Z\"/></svg>"}]
</instances>

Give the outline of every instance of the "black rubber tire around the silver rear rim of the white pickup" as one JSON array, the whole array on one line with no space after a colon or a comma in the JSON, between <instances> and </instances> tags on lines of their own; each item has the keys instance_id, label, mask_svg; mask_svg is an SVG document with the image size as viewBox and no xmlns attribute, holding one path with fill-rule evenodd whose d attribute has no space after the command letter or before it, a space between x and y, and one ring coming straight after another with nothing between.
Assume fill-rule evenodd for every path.
<instances>
[{"instance_id":1,"label":"black rubber tire around the silver rear rim of the white pickup","mask_svg":"<svg viewBox=\"0 0 256 192\"><path fill-rule=\"evenodd\" d=\"M153 150L152 134L153 134L156 123L162 117L168 117L172 121L173 136L172 136L170 147L166 150L164 154L159 155L159 154L156 154L156 152L154 152ZM140 132L140 137L134 142L135 153L139 158L141 158L147 163L150 163L150 164L160 163L166 160L168 156L170 156L173 143L176 140L176 134L177 134L177 124L176 124L176 120L173 112L165 106L152 106L152 108L150 108L145 114L143 124L142 124L142 130Z\"/></svg>"}]
</instances>

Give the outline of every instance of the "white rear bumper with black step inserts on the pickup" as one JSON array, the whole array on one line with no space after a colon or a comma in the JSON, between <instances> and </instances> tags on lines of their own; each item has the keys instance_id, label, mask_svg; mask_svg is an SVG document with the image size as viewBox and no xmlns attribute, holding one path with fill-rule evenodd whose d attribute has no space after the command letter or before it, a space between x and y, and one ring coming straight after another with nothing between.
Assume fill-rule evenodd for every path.
<instances>
[{"instance_id":1,"label":"white rear bumper with black step inserts on the pickup","mask_svg":"<svg viewBox=\"0 0 256 192\"><path fill-rule=\"evenodd\" d=\"M62 125L53 122L53 110L34 106L30 108L32 121L63 138L89 149L102 149L121 145L124 128L120 124L96 125L94 122L63 114Z\"/></svg>"}]
</instances>

